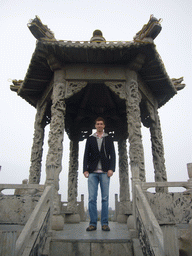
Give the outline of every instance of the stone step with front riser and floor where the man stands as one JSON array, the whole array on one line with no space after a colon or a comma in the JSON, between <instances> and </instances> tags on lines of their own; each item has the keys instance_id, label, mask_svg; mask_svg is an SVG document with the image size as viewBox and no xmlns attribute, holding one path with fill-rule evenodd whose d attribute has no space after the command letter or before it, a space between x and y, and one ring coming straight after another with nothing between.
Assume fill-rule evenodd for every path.
<instances>
[{"instance_id":1,"label":"stone step with front riser and floor where the man stands","mask_svg":"<svg viewBox=\"0 0 192 256\"><path fill-rule=\"evenodd\" d=\"M96 231L87 232L87 222L65 224L64 230L54 231L49 247L50 256L134 256L133 241L127 225L110 222L111 231L105 232L98 226ZM138 256L138 255L136 255Z\"/></svg>"}]
</instances>

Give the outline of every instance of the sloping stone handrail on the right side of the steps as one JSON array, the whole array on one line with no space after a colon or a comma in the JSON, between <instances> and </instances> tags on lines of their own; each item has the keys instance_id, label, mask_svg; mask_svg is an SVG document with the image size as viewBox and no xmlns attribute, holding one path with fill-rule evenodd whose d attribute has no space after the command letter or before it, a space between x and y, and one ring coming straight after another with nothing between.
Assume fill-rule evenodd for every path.
<instances>
[{"instance_id":1,"label":"sloping stone handrail on the right side of the steps","mask_svg":"<svg viewBox=\"0 0 192 256\"><path fill-rule=\"evenodd\" d=\"M163 233L138 183L135 184L135 197L135 217L139 238L142 240L142 235L147 237L152 255L162 256L164 255Z\"/></svg>"}]
</instances>

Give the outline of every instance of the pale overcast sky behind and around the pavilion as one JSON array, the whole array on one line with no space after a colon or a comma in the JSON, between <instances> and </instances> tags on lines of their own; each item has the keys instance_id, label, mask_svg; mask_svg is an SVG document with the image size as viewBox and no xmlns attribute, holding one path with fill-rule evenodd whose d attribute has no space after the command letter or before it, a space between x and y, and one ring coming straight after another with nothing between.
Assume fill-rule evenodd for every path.
<instances>
[{"instance_id":1,"label":"pale overcast sky behind and around the pavilion","mask_svg":"<svg viewBox=\"0 0 192 256\"><path fill-rule=\"evenodd\" d=\"M162 31L155 39L170 78L184 76L186 87L159 109L163 133L166 170L169 181L187 181L186 164L192 162L192 2L191 0L1 0L0 1L0 183L20 184L28 178L36 110L10 90L11 80L24 79L36 39L27 28L38 15L58 40L88 41L100 29L108 41L131 41L148 22L151 14L162 18ZM45 180L47 136L42 163ZM147 181L154 181L149 131L144 128L143 144ZM64 139L60 193L67 200L67 136ZM82 175L80 143L78 199L85 194L87 180ZM131 174L130 174L131 176ZM118 170L111 179L110 206L119 193Z\"/></svg>"}]
</instances>

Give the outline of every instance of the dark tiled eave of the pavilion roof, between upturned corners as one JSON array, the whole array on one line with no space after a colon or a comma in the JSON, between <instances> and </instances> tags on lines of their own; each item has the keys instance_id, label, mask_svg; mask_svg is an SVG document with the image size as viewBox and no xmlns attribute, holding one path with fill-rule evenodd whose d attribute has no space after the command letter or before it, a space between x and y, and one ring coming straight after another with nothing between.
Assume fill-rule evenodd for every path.
<instances>
[{"instance_id":1,"label":"dark tiled eave of the pavilion roof, between upturned corners","mask_svg":"<svg viewBox=\"0 0 192 256\"><path fill-rule=\"evenodd\" d=\"M53 71L48 57L53 55L61 65L103 64L131 66L138 54L145 60L138 73L148 85L161 107L177 90L169 78L156 46L149 42L79 42L38 40L25 79L17 91L18 95L34 107L50 83Z\"/></svg>"}]
</instances>

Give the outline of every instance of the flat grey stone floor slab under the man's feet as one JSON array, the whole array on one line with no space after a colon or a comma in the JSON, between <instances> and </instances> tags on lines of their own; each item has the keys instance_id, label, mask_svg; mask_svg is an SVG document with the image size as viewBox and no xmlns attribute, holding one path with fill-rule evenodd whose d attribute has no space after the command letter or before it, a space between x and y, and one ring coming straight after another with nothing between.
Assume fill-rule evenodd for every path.
<instances>
[{"instance_id":1,"label":"flat grey stone floor slab under the man's feet","mask_svg":"<svg viewBox=\"0 0 192 256\"><path fill-rule=\"evenodd\" d=\"M83 241L83 242L128 242L131 240L127 224L110 222L109 227L111 231L102 231L101 226L98 225L95 231L86 231L89 226L88 222L81 222L78 224L64 224L64 230L55 231L52 235L52 241L65 240L68 242Z\"/></svg>"}]
</instances>

